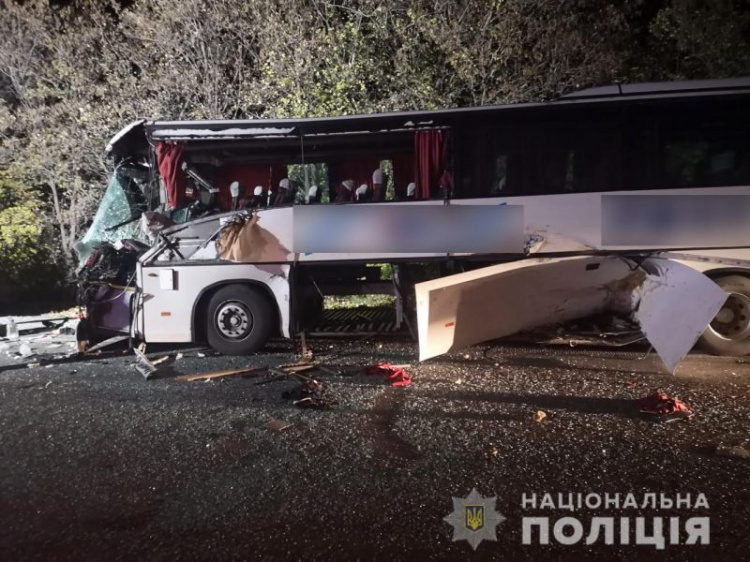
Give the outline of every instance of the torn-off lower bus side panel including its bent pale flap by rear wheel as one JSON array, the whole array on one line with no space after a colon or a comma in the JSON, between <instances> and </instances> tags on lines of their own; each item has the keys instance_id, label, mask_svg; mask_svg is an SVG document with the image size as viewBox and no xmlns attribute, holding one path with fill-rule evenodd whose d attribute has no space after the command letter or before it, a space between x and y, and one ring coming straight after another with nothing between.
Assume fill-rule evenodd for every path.
<instances>
[{"instance_id":1,"label":"torn-off lower bus side panel including its bent pale flap by rear wheel","mask_svg":"<svg viewBox=\"0 0 750 562\"><path fill-rule=\"evenodd\" d=\"M416 286L420 361L605 310L632 312L670 372L727 294L666 259L640 268L618 257L536 258Z\"/></svg>"}]
</instances>

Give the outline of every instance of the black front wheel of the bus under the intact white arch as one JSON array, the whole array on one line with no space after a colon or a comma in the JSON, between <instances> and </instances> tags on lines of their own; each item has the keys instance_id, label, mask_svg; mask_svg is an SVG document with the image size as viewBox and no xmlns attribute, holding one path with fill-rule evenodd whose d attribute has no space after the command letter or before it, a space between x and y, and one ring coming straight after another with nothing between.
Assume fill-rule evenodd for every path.
<instances>
[{"instance_id":1,"label":"black front wheel of the bus under the intact white arch","mask_svg":"<svg viewBox=\"0 0 750 562\"><path fill-rule=\"evenodd\" d=\"M211 296L206 316L208 344L224 355L246 355L263 348L276 326L268 295L247 285L227 285Z\"/></svg>"}]
</instances>

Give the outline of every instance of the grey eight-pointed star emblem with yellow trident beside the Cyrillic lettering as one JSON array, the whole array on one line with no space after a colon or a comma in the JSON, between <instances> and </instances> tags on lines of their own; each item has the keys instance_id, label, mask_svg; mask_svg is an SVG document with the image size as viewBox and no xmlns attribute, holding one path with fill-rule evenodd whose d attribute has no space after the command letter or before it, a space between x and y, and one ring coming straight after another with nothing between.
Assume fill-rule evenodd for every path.
<instances>
[{"instance_id":1,"label":"grey eight-pointed star emblem with yellow trident beside the Cyrillic lettering","mask_svg":"<svg viewBox=\"0 0 750 562\"><path fill-rule=\"evenodd\" d=\"M497 498L484 498L476 489L465 498L453 498L453 513L443 519L453 525L453 541L467 541L476 550L483 541L497 540L497 526L505 517L495 511Z\"/></svg>"}]
</instances>

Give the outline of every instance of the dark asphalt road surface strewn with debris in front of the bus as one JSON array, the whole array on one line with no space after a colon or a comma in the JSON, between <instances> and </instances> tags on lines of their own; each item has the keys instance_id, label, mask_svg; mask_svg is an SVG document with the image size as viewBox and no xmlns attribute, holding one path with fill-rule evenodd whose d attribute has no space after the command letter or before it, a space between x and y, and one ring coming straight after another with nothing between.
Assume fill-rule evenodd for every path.
<instances>
[{"instance_id":1,"label":"dark asphalt road surface strewn with debris in front of the bus","mask_svg":"<svg viewBox=\"0 0 750 562\"><path fill-rule=\"evenodd\" d=\"M409 342L314 340L315 361L343 374L315 373L336 403L312 410L282 397L297 383L272 375L175 378L298 361L286 342L245 358L151 348L170 359L148 381L123 349L66 361L53 357L70 341L32 343L37 355L18 358L18 343L0 342L2 560L750 556L750 460L716 452L750 445L750 359L694 353L673 376L640 347L485 345L418 364ZM410 364L412 385L362 374L376 360ZM655 390L694 418L644 419L635 400ZM444 521L472 489L505 518L476 551ZM522 505L546 493L632 493L639 505ZM650 493L704 494L708 507L643 507ZM708 517L710 544L669 544L665 519L663 550L620 544L619 532L612 545L603 534L524 545L531 516L575 517L584 539L593 517Z\"/></svg>"}]
</instances>

